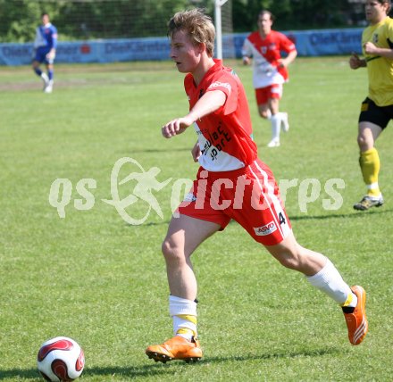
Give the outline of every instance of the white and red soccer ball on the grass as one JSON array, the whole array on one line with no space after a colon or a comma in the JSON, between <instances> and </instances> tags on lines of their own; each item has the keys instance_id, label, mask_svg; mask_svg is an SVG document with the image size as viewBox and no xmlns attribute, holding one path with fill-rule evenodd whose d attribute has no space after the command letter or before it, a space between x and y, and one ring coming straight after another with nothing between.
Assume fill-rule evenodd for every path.
<instances>
[{"instance_id":1,"label":"white and red soccer ball on the grass","mask_svg":"<svg viewBox=\"0 0 393 382\"><path fill-rule=\"evenodd\" d=\"M41 345L38 370L47 381L72 381L82 374L85 355L76 341L56 336Z\"/></svg>"}]
</instances>

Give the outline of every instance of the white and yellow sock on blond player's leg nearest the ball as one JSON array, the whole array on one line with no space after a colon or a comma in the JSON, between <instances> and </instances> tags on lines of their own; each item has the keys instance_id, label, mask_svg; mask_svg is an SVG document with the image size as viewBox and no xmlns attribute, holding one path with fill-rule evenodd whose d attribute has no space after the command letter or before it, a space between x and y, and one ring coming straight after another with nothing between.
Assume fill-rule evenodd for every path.
<instances>
[{"instance_id":1,"label":"white and yellow sock on blond player's leg nearest the ball","mask_svg":"<svg viewBox=\"0 0 393 382\"><path fill-rule=\"evenodd\" d=\"M169 296L169 311L173 320L173 336L191 341L197 336L197 303L186 298Z\"/></svg>"}]
</instances>

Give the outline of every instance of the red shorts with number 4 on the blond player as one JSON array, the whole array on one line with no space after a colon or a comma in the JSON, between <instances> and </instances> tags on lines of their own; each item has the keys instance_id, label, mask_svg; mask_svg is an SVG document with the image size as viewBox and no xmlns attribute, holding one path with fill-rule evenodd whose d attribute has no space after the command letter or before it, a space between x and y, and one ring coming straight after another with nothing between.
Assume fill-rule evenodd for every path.
<instances>
[{"instance_id":1,"label":"red shorts with number 4 on the blond player","mask_svg":"<svg viewBox=\"0 0 393 382\"><path fill-rule=\"evenodd\" d=\"M236 220L263 245L279 244L291 231L272 170L260 160L233 171L200 168L177 212L217 223L222 229Z\"/></svg>"}]
</instances>

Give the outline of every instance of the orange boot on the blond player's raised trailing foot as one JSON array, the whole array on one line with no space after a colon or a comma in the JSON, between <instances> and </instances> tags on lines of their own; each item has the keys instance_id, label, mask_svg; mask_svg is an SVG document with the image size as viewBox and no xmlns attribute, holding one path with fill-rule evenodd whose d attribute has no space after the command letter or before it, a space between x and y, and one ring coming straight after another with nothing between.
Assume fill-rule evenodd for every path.
<instances>
[{"instance_id":1,"label":"orange boot on the blond player's raised trailing foot","mask_svg":"<svg viewBox=\"0 0 393 382\"><path fill-rule=\"evenodd\" d=\"M343 311L347 321L349 342L352 345L359 345L368 331L368 321L365 317L365 290L362 286L352 286L351 290L357 297L355 310L346 312L348 308L343 308Z\"/></svg>"}]
</instances>

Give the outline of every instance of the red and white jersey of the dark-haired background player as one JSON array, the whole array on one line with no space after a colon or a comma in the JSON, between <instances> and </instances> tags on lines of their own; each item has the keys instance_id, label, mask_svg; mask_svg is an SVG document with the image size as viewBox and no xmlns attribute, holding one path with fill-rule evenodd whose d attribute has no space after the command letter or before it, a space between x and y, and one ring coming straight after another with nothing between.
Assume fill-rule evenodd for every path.
<instances>
[{"instance_id":1,"label":"red and white jersey of the dark-haired background player","mask_svg":"<svg viewBox=\"0 0 393 382\"><path fill-rule=\"evenodd\" d=\"M242 47L242 54L253 57L253 85L255 89L283 84L288 81L286 68L278 67L280 52L296 51L295 44L284 34L272 30L265 38L259 31L251 33Z\"/></svg>"}]
</instances>

